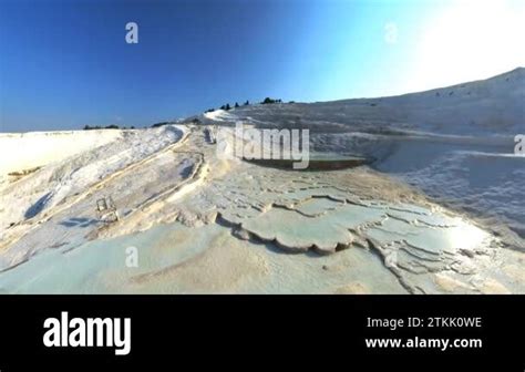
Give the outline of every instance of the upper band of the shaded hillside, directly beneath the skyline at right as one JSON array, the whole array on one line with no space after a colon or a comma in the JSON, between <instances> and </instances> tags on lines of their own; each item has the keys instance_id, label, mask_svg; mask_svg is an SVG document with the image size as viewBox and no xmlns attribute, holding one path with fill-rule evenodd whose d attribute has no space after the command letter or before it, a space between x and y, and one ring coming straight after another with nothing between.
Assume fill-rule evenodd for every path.
<instances>
[{"instance_id":1,"label":"upper band of the shaded hillside, directly beneath the skyline at right","mask_svg":"<svg viewBox=\"0 0 525 372\"><path fill-rule=\"evenodd\" d=\"M318 133L400 131L441 135L514 135L524 131L525 69L483 81L393 97L276 103L216 111L204 118Z\"/></svg>"}]
</instances>

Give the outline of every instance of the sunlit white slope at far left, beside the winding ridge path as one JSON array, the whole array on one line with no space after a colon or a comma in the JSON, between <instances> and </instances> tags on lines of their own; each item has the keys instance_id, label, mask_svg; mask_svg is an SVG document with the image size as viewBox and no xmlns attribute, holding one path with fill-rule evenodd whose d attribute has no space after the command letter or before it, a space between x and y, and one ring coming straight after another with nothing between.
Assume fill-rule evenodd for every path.
<instances>
[{"instance_id":1,"label":"sunlit white slope at far left, beside the winding ridge path","mask_svg":"<svg viewBox=\"0 0 525 372\"><path fill-rule=\"evenodd\" d=\"M45 164L45 166L20 179L7 179L0 188L2 198L0 248L2 245L9 244L11 237L32 229L40 219L47 218L50 210L68 208L72 200L93 192L91 188L94 185L115 177L119 172L145 161L166 146L176 143L182 138L184 131L184 128L176 126L144 131L111 131L113 133L110 134L110 137L113 136L117 140L110 141L104 145L100 145L101 141L105 138L103 131L99 133L101 141L94 140L90 131L74 132L70 135L69 142L74 143L74 140L78 140L79 143L83 143L83 137L87 137L87 142L91 140L94 146L85 146L83 152L81 152L81 146L78 154L69 157L54 156L54 162L49 164L35 163ZM41 134L38 137L43 143L38 145L38 148L49 148L48 140L51 144L58 145L53 133ZM28 140L34 141L31 137ZM0 141L9 142L9 138L0 138ZM62 140L60 144L62 144ZM24 145L21 147L25 148ZM60 153L60 147L55 149ZM50 158L45 161L50 161ZM102 186L101 188L103 189ZM90 209L90 211L92 210Z\"/></svg>"}]
</instances>

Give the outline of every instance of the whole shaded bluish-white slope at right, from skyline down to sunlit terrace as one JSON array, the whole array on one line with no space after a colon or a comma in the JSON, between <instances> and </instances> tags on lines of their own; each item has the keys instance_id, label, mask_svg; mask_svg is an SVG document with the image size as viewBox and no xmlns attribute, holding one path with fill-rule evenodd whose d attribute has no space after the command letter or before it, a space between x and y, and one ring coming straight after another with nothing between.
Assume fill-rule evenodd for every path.
<instances>
[{"instance_id":1,"label":"whole shaded bluish-white slope at right, from skyline down to sunlit terrace","mask_svg":"<svg viewBox=\"0 0 525 372\"><path fill-rule=\"evenodd\" d=\"M310 149L375 159L375 169L484 219L525 249L525 157L514 156L514 137L525 133L524 68L393 97L256 104L216 116L203 121L308 128Z\"/></svg>"}]
</instances>

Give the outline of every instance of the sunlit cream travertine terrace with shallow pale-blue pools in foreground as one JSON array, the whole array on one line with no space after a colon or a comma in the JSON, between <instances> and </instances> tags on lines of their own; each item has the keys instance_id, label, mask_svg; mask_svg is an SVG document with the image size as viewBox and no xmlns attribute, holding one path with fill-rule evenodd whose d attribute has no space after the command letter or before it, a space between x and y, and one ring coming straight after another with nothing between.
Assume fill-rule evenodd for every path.
<instances>
[{"instance_id":1,"label":"sunlit cream travertine terrace with shallow pale-blue pools in foreground","mask_svg":"<svg viewBox=\"0 0 525 372\"><path fill-rule=\"evenodd\" d=\"M288 172L223 161L203 127L171 131L178 133L175 142L143 152L86 188L84 179L58 187L64 199L7 229L11 244L1 255L0 288L338 293L525 288L512 265L518 252L501 249L473 221L368 167ZM50 182L56 174L74 178L90 167L64 174L74 162L18 179L17 189L32 190L42 175ZM119 223L94 219L94 200L103 195L115 198ZM138 268L124 265L128 246L141 252ZM496 275L495 266L506 273Z\"/></svg>"}]
</instances>

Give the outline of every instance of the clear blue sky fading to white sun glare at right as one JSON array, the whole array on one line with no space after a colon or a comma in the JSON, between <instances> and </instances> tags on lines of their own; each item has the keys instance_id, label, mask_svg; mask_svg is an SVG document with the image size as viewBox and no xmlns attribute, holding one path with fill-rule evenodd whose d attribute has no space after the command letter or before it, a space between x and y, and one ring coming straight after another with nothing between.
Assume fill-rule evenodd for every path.
<instances>
[{"instance_id":1,"label":"clear blue sky fading to white sun glare at right","mask_svg":"<svg viewBox=\"0 0 525 372\"><path fill-rule=\"evenodd\" d=\"M420 91L525 65L523 1L0 0L0 131L134 125L265 96ZM125 24L138 24L138 43Z\"/></svg>"}]
</instances>

